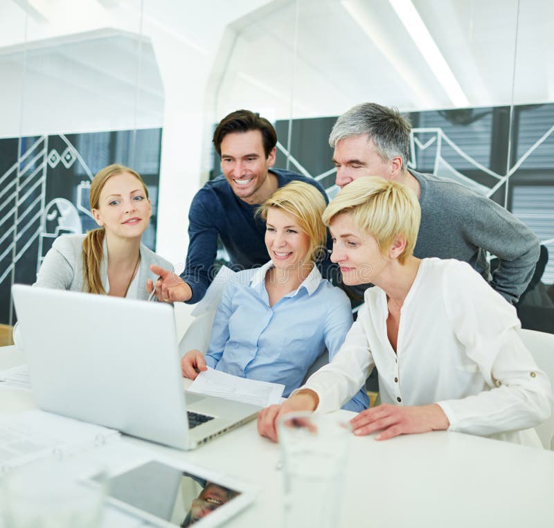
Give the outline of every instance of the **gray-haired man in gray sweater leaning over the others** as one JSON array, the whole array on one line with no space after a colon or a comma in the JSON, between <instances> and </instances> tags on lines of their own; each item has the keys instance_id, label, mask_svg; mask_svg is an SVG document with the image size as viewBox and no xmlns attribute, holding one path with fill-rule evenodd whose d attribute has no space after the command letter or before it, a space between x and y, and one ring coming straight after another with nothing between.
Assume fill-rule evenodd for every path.
<instances>
[{"instance_id":1,"label":"gray-haired man in gray sweater leaning over the others","mask_svg":"<svg viewBox=\"0 0 554 528\"><path fill-rule=\"evenodd\" d=\"M452 180L409 170L410 132L400 112L380 104L358 104L343 113L329 136L337 185L343 188L359 176L382 176L407 185L421 206L413 254L469 262L515 304L533 277L539 240L491 199ZM492 275L486 251L499 258Z\"/></svg>"}]
</instances>

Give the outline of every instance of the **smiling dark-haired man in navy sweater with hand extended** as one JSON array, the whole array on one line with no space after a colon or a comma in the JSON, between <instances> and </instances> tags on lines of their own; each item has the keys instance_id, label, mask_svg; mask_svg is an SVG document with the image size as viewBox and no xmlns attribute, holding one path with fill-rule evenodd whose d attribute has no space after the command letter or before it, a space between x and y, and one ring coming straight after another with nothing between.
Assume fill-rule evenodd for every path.
<instances>
[{"instance_id":1,"label":"smiling dark-haired man in navy sweater with hand extended","mask_svg":"<svg viewBox=\"0 0 554 528\"><path fill-rule=\"evenodd\" d=\"M223 174L208 181L190 204L190 242L181 278L163 268L152 268L161 277L156 283L160 300L195 303L204 297L213 280L217 237L229 254L231 268L265 264L269 260L265 222L256 217L256 209L283 185L305 181L328 201L314 179L273 168L277 134L258 113L237 110L224 117L213 133L213 144Z\"/></svg>"}]
</instances>

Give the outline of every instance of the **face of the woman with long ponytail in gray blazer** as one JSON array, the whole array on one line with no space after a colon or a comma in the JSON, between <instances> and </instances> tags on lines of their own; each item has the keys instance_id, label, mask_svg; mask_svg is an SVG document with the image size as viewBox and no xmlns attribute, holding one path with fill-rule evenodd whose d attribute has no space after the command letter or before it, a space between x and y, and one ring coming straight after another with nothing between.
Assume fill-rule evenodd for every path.
<instances>
[{"instance_id":1,"label":"face of the woman with long ponytail in gray blazer","mask_svg":"<svg viewBox=\"0 0 554 528\"><path fill-rule=\"evenodd\" d=\"M135 238L148 227L152 207L141 181L129 172L120 172L107 179L92 215L110 236Z\"/></svg>"}]
</instances>

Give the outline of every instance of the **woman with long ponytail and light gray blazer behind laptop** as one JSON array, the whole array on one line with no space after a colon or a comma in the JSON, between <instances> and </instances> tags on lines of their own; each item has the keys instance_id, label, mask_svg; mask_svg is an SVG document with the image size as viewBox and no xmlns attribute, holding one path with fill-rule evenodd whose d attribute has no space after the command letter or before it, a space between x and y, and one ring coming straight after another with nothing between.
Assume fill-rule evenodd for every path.
<instances>
[{"instance_id":1,"label":"woman with long ponytail and light gray blazer behind laptop","mask_svg":"<svg viewBox=\"0 0 554 528\"><path fill-rule=\"evenodd\" d=\"M55 239L35 286L147 299L146 282L156 279L150 264L170 264L141 243L152 215L143 179L109 165L94 176L89 201L98 228Z\"/></svg>"}]
</instances>

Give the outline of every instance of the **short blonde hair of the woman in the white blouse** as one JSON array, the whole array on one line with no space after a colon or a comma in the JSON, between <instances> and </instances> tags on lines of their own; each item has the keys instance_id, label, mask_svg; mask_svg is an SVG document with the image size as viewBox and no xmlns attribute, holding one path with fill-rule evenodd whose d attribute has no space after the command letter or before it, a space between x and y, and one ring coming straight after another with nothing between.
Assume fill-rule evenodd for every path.
<instances>
[{"instance_id":1,"label":"short blonde hair of the woman in the white blouse","mask_svg":"<svg viewBox=\"0 0 554 528\"><path fill-rule=\"evenodd\" d=\"M325 225L348 213L354 225L375 238L383 255L399 237L406 240L398 262L405 264L413 255L418 239L421 208L415 193L396 181L362 176L342 188L323 212Z\"/></svg>"}]
</instances>

